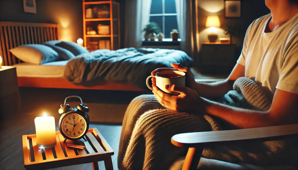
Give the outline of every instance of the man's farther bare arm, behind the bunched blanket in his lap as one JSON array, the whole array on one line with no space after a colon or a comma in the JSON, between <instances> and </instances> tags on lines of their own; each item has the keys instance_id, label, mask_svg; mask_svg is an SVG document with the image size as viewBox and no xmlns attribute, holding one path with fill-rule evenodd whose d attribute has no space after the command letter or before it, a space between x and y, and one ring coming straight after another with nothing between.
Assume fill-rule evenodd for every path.
<instances>
[{"instance_id":1,"label":"man's farther bare arm, behind the bunched blanket in his lap","mask_svg":"<svg viewBox=\"0 0 298 170\"><path fill-rule=\"evenodd\" d=\"M198 95L201 97L208 99L220 97L232 90L235 80L239 77L244 77L244 73L245 66L237 63L229 77L224 81L214 83L196 83L193 89L197 91Z\"/></svg>"}]
</instances>

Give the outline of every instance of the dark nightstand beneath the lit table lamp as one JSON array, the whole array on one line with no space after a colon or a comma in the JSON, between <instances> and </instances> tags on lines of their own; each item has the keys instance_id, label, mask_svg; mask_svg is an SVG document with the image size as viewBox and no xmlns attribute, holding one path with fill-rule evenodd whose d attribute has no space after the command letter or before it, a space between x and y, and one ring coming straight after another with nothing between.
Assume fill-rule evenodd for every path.
<instances>
[{"instance_id":1,"label":"dark nightstand beneath the lit table lamp","mask_svg":"<svg viewBox=\"0 0 298 170\"><path fill-rule=\"evenodd\" d=\"M235 44L202 43L202 72L227 73L235 65Z\"/></svg>"}]
</instances>

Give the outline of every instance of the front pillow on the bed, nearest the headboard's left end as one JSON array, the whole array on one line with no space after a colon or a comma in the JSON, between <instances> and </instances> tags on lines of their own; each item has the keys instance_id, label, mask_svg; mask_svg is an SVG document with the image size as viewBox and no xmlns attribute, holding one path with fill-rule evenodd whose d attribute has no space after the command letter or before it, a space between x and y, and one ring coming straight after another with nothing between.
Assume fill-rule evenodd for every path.
<instances>
[{"instance_id":1,"label":"front pillow on the bed, nearest the headboard's left end","mask_svg":"<svg viewBox=\"0 0 298 170\"><path fill-rule=\"evenodd\" d=\"M48 46L26 44L9 50L18 59L34 64L44 64L59 59L59 54Z\"/></svg>"}]
</instances>

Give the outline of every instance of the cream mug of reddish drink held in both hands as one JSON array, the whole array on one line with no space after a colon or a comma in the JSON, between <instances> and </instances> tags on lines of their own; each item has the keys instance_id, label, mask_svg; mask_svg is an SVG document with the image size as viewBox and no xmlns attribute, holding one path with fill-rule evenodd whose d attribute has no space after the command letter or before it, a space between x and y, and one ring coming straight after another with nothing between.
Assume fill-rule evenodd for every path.
<instances>
[{"instance_id":1,"label":"cream mug of reddish drink held in both hands","mask_svg":"<svg viewBox=\"0 0 298 170\"><path fill-rule=\"evenodd\" d=\"M146 79L146 84L150 90L153 90L153 88L149 85L148 80L151 77L155 77L156 79L156 86L162 90L163 92L177 96L179 93L168 91L165 88L165 85L179 85L185 87L185 73L182 71L160 71L157 72L154 76L149 76Z\"/></svg>"}]
</instances>

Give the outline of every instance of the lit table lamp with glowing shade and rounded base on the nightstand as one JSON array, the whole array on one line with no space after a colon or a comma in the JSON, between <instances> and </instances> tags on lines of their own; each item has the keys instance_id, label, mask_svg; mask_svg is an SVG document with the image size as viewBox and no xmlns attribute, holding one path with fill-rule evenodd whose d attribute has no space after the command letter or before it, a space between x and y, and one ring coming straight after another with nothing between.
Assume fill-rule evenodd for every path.
<instances>
[{"instance_id":1,"label":"lit table lamp with glowing shade and rounded base on the nightstand","mask_svg":"<svg viewBox=\"0 0 298 170\"><path fill-rule=\"evenodd\" d=\"M210 43L216 42L218 35L215 27L221 27L218 16L208 16L206 21L206 27L209 28L208 40Z\"/></svg>"}]
</instances>

